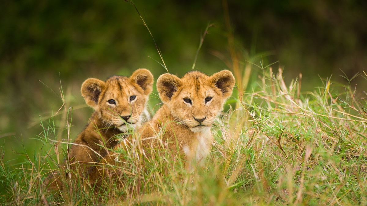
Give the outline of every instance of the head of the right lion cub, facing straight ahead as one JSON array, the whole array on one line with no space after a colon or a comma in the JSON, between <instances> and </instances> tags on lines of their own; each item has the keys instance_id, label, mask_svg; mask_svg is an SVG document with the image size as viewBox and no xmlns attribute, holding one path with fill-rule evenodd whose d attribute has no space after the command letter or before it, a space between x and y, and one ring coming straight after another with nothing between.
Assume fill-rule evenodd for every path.
<instances>
[{"instance_id":1,"label":"head of the right lion cub, facing straight ahead","mask_svg":"<svg viewBox=\"0 0 367 206\"><path fill-rule=\"evenodd\" d=\"M193 132L210 129L215 116L232 95L235 77L228 70L207 76L191 71L181 79L163 74L157 80L161 100L168 105L178 121L187 124Z\"/></svg>"}]
</instances>

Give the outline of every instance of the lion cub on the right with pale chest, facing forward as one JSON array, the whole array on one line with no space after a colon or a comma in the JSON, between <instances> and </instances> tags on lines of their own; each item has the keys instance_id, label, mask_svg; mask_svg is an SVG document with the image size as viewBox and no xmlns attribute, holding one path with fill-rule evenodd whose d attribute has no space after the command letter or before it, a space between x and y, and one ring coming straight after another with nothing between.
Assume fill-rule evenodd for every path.
<instances>
[{"instance_id":1,"label":"lion cub on the right with pale chest, facing forward","mask_svg":"<svg viewBox=\"0 0 367 206\"><path fill-rule=\"evenodd\" d=\"M163 142L168 144L167 148L172 154L179 152L186 161L203 161L212 143L210 129L214 118L223 109L226 99L232 95L234 85L235 78L228 70L212 76L191 71L181 79L172 74L161 75L157 80L157 89L164 104L139 129L143 154L150 155L150 148ZM165 130L160 131L163 127ZM157 134L162 134L160 140ZM134 142L134 137L130 135L115 148L126 150ZM113 164L114 156L106 157L106 161ZM99 179L102 173L110 171L103 172L94 168L89 174L90 182Z\"/></svg>"}]
</instances>

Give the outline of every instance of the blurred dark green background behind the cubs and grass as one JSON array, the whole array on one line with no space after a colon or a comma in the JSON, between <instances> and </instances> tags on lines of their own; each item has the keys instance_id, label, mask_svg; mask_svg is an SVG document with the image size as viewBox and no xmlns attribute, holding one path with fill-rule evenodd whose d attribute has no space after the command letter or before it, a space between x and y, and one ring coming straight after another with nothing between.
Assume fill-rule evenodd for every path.
<instances>
[{"instance_id":1,"label":"blurred dark green background behind the cubs and grass","mask_svg":"<svg viewBox=\"0 0 367 206\"><path fill-rule=\"evenodd\" d=\"M191 70L209 22L215 26L209 28L195 69L210 75L228 69L213 55L230 59L222 1L134 3L170 73L182 76ZM339 69L349 77L367 71L365 0L228 0L228 10L241 59L264 54L269 63L279 60L274 71L284 67L286 82L302 73L303 91L320 86L319 76L333 74L332 80L348 83ZM60 85L67 106L75 107L74 138L92 112L80 95L82 82L89 77L129 76L138 68L149 69L155 78L165 73L148 56L161 62L148 30L126 1L1 1L0 145L7 158L18 158L10 150L21 150L22 141L28 152L36 150L41 142L32 138L42 131L40 115L48 117L62 106ZM251 72L247 90L255 85L258 69L252 67ZM351 82L355 84L360 91L366 88L363 78ZM150 109L160 102L156 97L152 95ZM62 116L55 120L62 121Z\"/></svg>"}]
</instances>

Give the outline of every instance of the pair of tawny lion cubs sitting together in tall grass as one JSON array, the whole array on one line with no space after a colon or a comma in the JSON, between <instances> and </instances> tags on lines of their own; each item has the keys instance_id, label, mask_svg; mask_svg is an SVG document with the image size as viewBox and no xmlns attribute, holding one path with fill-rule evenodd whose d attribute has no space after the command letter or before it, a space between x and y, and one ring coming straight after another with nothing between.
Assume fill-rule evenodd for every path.
<instances>
[{"instance_id":1,"label":"pair of tawny lion cubs sitting together in tall grass","mask_svg":"<svg viewBox=\"0 0 367 206\"><path fill-rule=\"evenodd\" d=\"M79 161L84 168L88 168L89 163L90 181L101 175L96 167L91 167L94 162L101 157L109 163L114 161L101 144L106 148L127 148L125 144L132 135L120 143L112 137L127 132L126 124L139 125L152 85L153 75L146 69L136 70L130 78L113 76L106 81L90 78L83 83L81 93L95 112L71 147L70 163ZM181 154L186 161L204 159L212 142L211 125L232 95L234 85L235 78L228 70L212 76L191 71L181 79L173 74L162 74L157 80L157 90L164 104L139 128L142 149L149 150L159 144L154 139L166 125L162 141L168 143L169 152Z\"/></svg>"}]
</instances>

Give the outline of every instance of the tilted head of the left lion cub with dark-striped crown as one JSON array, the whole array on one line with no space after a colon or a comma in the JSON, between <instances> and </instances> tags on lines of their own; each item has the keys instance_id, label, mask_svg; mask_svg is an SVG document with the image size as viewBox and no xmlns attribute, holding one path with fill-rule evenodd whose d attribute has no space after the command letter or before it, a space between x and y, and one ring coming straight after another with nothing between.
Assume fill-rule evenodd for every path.
<instances>
[{"instance_id":1,"label":"tilted head of the left lion cub with dark-striped crown","mask_svg":"<svg viewBox=\"0 0 367 206\"><path fill-rule=\"evenodd\" d=\"M89 78L81 86L81 94L105 128L116 127L126 132L126 124L134 127L139 124L152 87L152 73L138 69L131 77L112 76L106 81Z\"/></svg>"}]
</instances>

